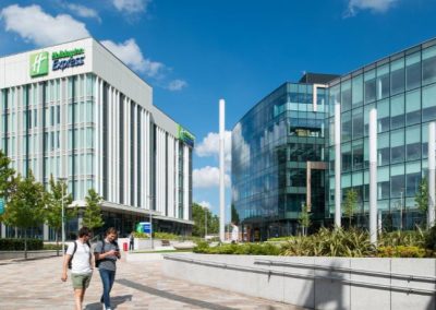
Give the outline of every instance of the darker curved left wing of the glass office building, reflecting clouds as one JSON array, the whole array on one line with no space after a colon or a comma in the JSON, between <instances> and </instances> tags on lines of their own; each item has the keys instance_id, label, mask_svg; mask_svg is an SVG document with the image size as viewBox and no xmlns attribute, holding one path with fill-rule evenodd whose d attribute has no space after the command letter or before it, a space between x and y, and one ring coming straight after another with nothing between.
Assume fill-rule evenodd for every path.
<instances>
[{"instance_id":1,"label":"darker curved left wing of the glass office building, reflecting clouds","mask_svg":"<svg viewBox=\"0 0 436 310\"><path fill-rule=\"evenodd\" d=\"M313 90L286 83L233 128L232 206L250 240L294 234L304 204L324 218L327 96L314 109Z\"/></svg>"}]
</instances>

